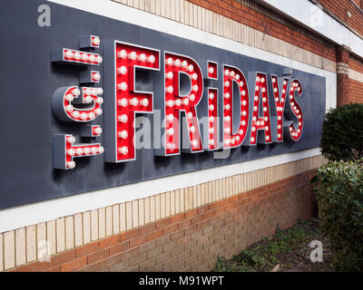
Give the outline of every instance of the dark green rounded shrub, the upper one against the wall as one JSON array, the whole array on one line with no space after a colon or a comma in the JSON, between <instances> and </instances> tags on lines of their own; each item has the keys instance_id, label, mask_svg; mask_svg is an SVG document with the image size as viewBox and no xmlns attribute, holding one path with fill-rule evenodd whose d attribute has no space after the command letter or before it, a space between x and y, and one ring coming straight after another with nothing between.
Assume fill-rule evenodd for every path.
<instances>
[{"instance_id":1,"label":"dark green rounded shrub, the upper one against the wall","mask_svg":"<svg viewBox=\"0 0 363 290\"><path fill-rule=\"evenodd\" d=\"M363 158L363 104L330 110L323 122L321 152L328 160Z\"/></svg>"}]
</instances>

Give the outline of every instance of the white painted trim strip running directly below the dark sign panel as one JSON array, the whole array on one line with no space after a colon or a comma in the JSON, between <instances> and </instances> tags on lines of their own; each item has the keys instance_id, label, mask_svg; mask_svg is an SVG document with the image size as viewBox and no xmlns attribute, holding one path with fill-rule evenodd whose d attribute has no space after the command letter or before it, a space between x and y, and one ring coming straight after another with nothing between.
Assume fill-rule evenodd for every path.
<instances>
[{"instance_id":1,"label":"white painted trim strip running directly below the dark sign panel","mask_svg":"<svg viewBox=\"0 0 363 290\"><path fill-rule=\"evenodd\" d=\"M96 190L71 197L55 198L17 208L6 208L0 210L0 233L134 199L151 197L166 191L183 189L216 179L223 179L241 173L302 160L318 156L319 154L320 149L314 148L311 150L275 155L263 160L250 160L162 179L147 180L111 189ZM127 194L121 194L125 192Z\"/></svg>"}]
</instances>

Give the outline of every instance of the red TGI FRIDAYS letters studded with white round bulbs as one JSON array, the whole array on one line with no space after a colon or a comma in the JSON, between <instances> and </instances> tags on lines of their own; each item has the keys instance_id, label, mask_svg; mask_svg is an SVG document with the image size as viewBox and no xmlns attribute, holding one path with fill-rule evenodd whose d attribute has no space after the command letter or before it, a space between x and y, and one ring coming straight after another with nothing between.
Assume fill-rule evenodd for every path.
<instances>
[{"instance_id":1,"label":"red TGI FRIDAYS letters studded with white round bulbs","mask_svg":"<svg viewBox=\"0 0 363 290\"><path fill-rule=\"evenodd\" d=\"M304 112L299 102L304 90L299 79L263 72L247 72L252 77L246 78L246 72L234 63L201 62L190 55L113 41L105 50L109 53L105 57L112 60L107 65L113 67L105 70L112 72L108 83L113 85L103 96L103 88L99 86L103 76L98 70L103 56L96 53L101 39L86 35L80 37L79 43L79 49L52 51L52 62L56 65L86 67L80 73L79 86L64 83L64 87L54 88L52 108L57 119L81 126L80 136L67 132L54 134L54 169L74 169L77 158L99 155L112 163L136 160L136 114L152 114L155 98L163 102L159 129L163 131L162 146L154 150L159 156L230 150L284 140L297 142L304 133ZM206 66L207 75L203 75L202 66ZM155 74L161 71L163 77ZM163 92L156 94L138 88L137 72L147 72L143 74L143 82L162 82ZM220 82L222 92L208 86L208 80ZM197 112L203 97L208 98L204 113L207 121L202 126L205 133L201 132ZM107 104L106 110L103 102ZM236 103L238 114L233 108ZM106 128L97 124L100 118L108 124ZM236 118L239 126L233 125ZM186 126L186 131L182 126ZM102 134L104 144L97 142ZM91 141L79 143L80 137ZM187 148L181 146L182 138L187 140Z\"/></svg>"}]
</instances>

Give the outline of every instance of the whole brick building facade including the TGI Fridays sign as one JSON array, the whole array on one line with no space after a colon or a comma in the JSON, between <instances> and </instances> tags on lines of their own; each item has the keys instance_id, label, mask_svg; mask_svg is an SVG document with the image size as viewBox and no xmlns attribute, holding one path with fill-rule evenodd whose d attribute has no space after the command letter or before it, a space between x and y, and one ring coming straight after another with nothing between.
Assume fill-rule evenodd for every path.
<instances>
[{"instance_id":1,"label":"whole brick building facade including the TGI Fridays sign","mask_svg":"<svg viewBox=\"0 0 363 290\"><path fill-rule=\"evenodd\" d=\"M22 95L19 98L11 89L5 89L0 95L5 108L9 108L9 113L4 114L6 117L0 119L0 130L3 136L13 140L1 143L3 149L0 151L5 160L0 165L3 176L0 185L0 271L210 271L218 256L238 254L262 237L272 235L276 227L290 227L298 218L310 218L316 213L310 179L314 169L326 162L319 151L319 126L324 113L337 105L362 102L363 1L36 0L28 3L16 0L11 5L3 3L1 11L3 14L11 9L19 11L22 6L24 11L15 14L14 21L23 19L25 24L29 21L24 30L32 38L23 35L23 28L16 28L13 20L2 17L5 24L11 25L0 50L5 52L10 47L14 48L14 55L21 55L17 62L10 54L5 68L9 68L10 76L17 75L19 81L25 83L26 90L14 87L15 93ZM12 29L16 37L10 34ZM83 38L84 35L89 37ZM98 36L101 43L100 38L93 42ZM73 48L66 49L63 45ZM90 50L86 50L88 48ZM117 83L120 75L128 75L127 69L125 72L117 70L117 62L121 62L120 69L122 62L132 62L132 53L123 58L123 51L128 49L137 52L134 62L143 62L143 53L148 64L128 64L127 68L137 66L147 69L149 74L138 74L137 69L133 70L133 76L116 86L114 82ZM70 53L66 54L84 51L89 52L87 60L70 61ZM37 59L36 55L44 55L44 58ZM93 63L89 61L91 55L95 57ZM129 105L128 102L130 106L139 106L133 102L142 100L144 108L138 107L139 111L147 112L152 106L151 111L162 108L162 115L168 115L168 102L173 100L175 105L178 98L167 101L166 91L172 87L172 94L176 88L177 97L181 97L184 82L179 71L171 71L171 78L177 78L179 82L168 81L168 65L177 66L176 59L189 63L182 73L191 77L190 91L196 85L194 97L198 99L199 89L204 89L201 94L206 97L200 98L209 100L201 101L209 108L206 109L209 118L214 116L213 105L212 108L222 106L218 113L223 115L223 120L233 119L233 114L226 111L233 111L235 102L231 102L231 110L227 108L230 103L226 101L226 94L231 92L233 97L235 82L240 86L238 104L243 106L243 101L250 100L250 107L249 104L246 107L247 119L243 119L243 109L238 112L241 122L252 123L250 129L240 127L244 130L239 135L243 139L240 140L243 149L237 149L238 154L231 146L232 140L237 142L238 139L226 139L223 135L226 133L225 121L221 122L224 130L221 140L222 148L228 151L227 157L218 156L220 151L213 151L218 148L213 147L208 137L210 142L204 142L204 145L191 140L187 148L190 152L186 155L171 153L171 157L168 154L172 151L168 150L174 150L172 143L171 147L165 146L157 153L136 150L135 143L130 143L129 147L117 145L118 138L124 140L127 134L136 136L136 133L132 124L130 130L119 131L114 119L120 117L123 122L123 109L120 113L119 109L113 112L114 102L120 102L116 108L122 108ZM97 77L93 80L94 73L100 73L98 71L90 72L88 67L81 70L69 63L63 66L64 62L82 65L83 61L88 62L88 66L90 62L99 65L92 67L101 72L98 80ZM162 79L152 71L162 72ZM38 73L44 75L42 81L36 79ZM238 80L236 75L239 75ZM241 83L242 75L245 82ZM88 77L91 80L85 80ZM152 84L148 81L140 84L135 81L138 78L153 81ZM262 81L265 78L269 82ZM72 163L74 160L67 152L74 149L72 154L77 154L76 150L83 145L75 148L72 147L74 142L69 142L71 145L65 146L65 153L62 145L73 137L69 132L78 138L79 127L74 130L71 125L59 121L71 117L73 121L82 122L79 119L82 111L81 116L67 115L66 108L69 107L66 105L71 105L79 95L74 89L79 86L86 90L82 84L91 82L94 86L89 85L89 90L100 87L99 84L104 90L103 104L96 102L101 100L94 97L98 92L89 94L94 97L94 111L99 110L93 118L89 117L91 121L102 114L103 106L103 116L99 116L99 119L103 118L103 131L97 131L98 125L93 124L87 127L92 131L82 129L81 136L90 141L103 132L104 139L93 143L90 149L94 148L94 155L103 154L104 150L104 159L112 163L104 167L100 156L89 157L92 160L89 163L81 159ZM127 91L127 87L123 90L124 85L132 85L134 90L130 93L134 93L134 97L140 94L144 99L132 101L134 98L131 98L123 106L118 93ZM261 98L259 92L253 101L253 95L249 99L248 92L251 95L255 88L256 92L261 91ZM286 125L280 119L285 116L284 111L279 115L278 107L289 88L293 94L290 100L286 95L286 100L289 100L291 111L286 113L294 121ZM299 100L300 88L308 97L294 103L294 93ZM245 99L243 92L247 92ZM31 102L27 102L26 93ZM83 93L87 95L85 91L81 95ZM224 98L224 103L214 103L211 93ZM268 101L263 101L264 93L268 93L265 96ZM43 94L44 100L42 97L33 100L33 96ZM72 100L67 99L69 94L74 94L69 97ZM183 102L185 96L183 94ZM10 100L13 97L15 99ZM185 106L191 106L184 108L186 113L195 113L193 101L189 98L188 103L184 102ZM18 102L23 105L16 111ZM14 125L9 125L9 121L18 116L17 112L23 112L24 105L33 108L34 102L37 106L33 112L22 116L22 124L15 121ZM260 115L259 102L270 102L266 111L261 107ZM33 128L36 109L43 103L47 119L39 120ZM201 103L199 106L204 106ZM276 108L275 114L273 108ZM299 111L304 114L299 115ZM258 133L253 135L253 124L260 120L270 122L270 129L276 125L276 132L269 134L262 125L262 129L257 127ZM26 125L27 121L29 125ZM283 126L280 128L279 124ZM284 136L290 136L287 141L279 131L285 125L288 131L283 131ZM7 130L9 126L11 131ZM26 127L25 134L16 131L20 127ZM169 133L171 129L179 131L179 127L168 128ZM235 131L235 126L231 125L230 129ZM258 140L260 130L264 132L264 140ZM38 131L43 131L44 135ZM114 131L120 133L115 139ZM18 143L12 134L21 134L22 138L31 140L35 136L36 142ZM247 134L249 140L245 144ZM180 136L184 136L182 132ZM188 137L191 135L183 138ZM44 147L39 145L43 140ZM259 145L253 147L257 142ZM101 151L102 145L105 148ZM210 147L201 149L198 146ZM202 150L211 152L206 155ZM201 153L198 155L198 152ZM44 160L42 156L45 156ZM27 166L32 158L37 169ZM98 159L98 163L93 159ZM26 161L24 166L21 160ZM7 170L10 173L7 174Z\"/></svg>"}]
</instances>

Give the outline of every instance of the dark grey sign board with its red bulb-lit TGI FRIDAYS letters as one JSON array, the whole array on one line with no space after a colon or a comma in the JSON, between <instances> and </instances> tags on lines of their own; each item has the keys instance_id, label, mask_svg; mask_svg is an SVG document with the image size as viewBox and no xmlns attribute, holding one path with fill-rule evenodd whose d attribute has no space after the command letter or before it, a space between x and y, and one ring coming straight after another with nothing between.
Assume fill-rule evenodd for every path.
<instances>
[{"instance_id":1,"label":"dark grey sign board with its red bulb-lit TGI FRIDAYS letters","mask_svg":"<svg viewBox=\"0 0 363 290\"><path fill-rule=\"evenodd\" d=\"M0 209L319 147L316 68L42 4L0 9Z\"/></svg>"}]
</instances>

